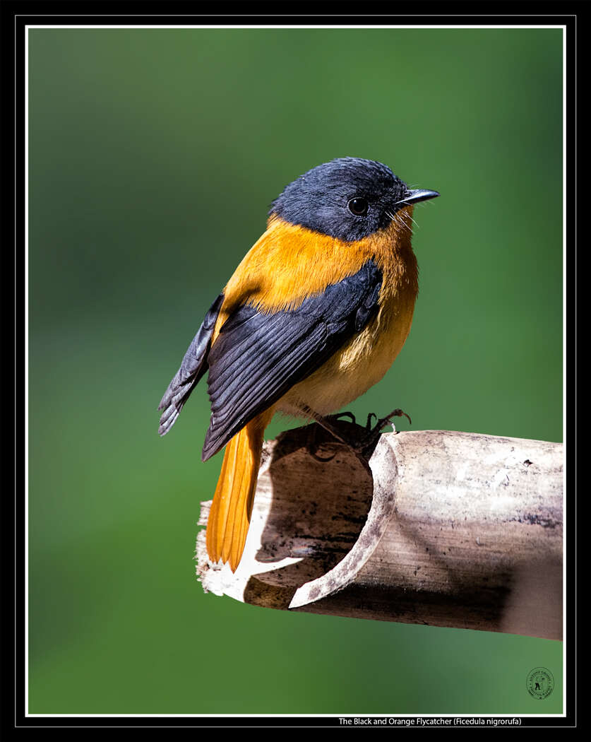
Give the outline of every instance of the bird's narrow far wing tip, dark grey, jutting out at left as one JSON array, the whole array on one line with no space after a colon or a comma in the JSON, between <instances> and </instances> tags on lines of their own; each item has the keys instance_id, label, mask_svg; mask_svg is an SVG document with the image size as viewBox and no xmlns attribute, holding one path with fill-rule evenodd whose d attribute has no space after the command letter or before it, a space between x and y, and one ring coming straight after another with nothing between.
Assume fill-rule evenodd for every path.
<instances>
[{"instance_id":1,"label":"bird's narrow far wing tip, dark grey, jutting out at left","mask_svg":"<svg viewBox=\"0 0 591 742\"><path fill-rule=\"evenodd\" d=\"M164 410L158 428L158 433L161 436L165 436L171 430L182 410L182 405L188 400L199 379L208 370L211 334L214 332L214 326L223 301L224 295L220 294L208 309L197 335L188 347L185 358L182 359L181 367L174 375L171 383L168 384L168 389L158 405L159 410Z\"/></svg>"}]
</instances>

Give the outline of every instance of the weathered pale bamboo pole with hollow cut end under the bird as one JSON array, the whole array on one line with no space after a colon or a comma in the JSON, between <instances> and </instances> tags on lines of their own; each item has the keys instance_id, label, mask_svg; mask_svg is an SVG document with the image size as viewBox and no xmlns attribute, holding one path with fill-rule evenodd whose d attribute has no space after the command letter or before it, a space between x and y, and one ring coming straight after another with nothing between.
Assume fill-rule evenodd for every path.
<instances>
[{"instance_id":1,"label":"weathered pale bamboo pole with hollow cut end under the bird","mask_svg":"<svg viewBox=\"0 0 591 742\"><path fill-rule=\"evenodd\" d=\"M297 428L265 443L236 573L201 531L197 574L269 608L561 639L562 488L558 443L388 433L367 462Z\"/></svg>"}]
</instances>

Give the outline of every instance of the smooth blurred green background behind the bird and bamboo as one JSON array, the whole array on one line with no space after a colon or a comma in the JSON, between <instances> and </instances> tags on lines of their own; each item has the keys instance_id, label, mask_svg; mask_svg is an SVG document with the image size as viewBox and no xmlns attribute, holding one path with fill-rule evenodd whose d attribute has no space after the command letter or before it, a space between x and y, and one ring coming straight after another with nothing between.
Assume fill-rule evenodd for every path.
<instances>
[{"instance_id":1,"label":"smooth blurred green background behind the bird and bamboo","mask_svg":"<svg viewBox=\"0 0 591 742\"><path fill-rule=\"evenodd\" d=\"M350 409L560 441L561 30L33 29L29 43L29 711L561 712L559 642L203 594L196 521L221 459L200 461L205 384L156 434L271 200L351 155L441 197L415 209L406 347ZM526 691L535 666L555 677L544 701Z\"/></svg>"}]
</instances>

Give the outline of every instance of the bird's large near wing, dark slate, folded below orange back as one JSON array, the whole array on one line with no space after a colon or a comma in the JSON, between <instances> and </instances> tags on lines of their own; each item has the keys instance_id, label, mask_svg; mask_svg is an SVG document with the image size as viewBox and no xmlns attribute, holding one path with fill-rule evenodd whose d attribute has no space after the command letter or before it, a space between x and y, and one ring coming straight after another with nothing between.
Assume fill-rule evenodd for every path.
<instances>
[{"instance_id":1,"label":"bird's large near wing, dark slate, folded below orange back","mask_svg":"<svg viewBox=\"0 0 591 742\"><path fill-rule=\"evenodd\" d=\"M380 269L368 260L292 311L240 306L208 355L211 421L203 461L360 332L377 312L381 285Z\"/></svg>"}]
</instances>

